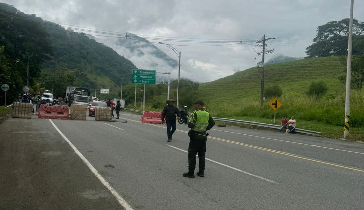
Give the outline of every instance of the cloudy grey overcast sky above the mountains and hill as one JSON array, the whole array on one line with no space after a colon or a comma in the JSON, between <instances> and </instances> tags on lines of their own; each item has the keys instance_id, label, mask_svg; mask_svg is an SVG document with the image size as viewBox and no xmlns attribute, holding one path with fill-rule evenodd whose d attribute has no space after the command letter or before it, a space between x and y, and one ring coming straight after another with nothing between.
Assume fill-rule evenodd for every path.
<instances>
[{"instance_id":1,"label":"cloudy grey overcast sky above the mountains and hill","mask_svg":"<svg viewBox=\"0 0 364 210\"><path fill-rule=\"evenodd\" d=\"M24 13L36 14L55 23L131 32L141 36L255 40L261 39L265 34L276 38L269 43L268 48L274 48L275 51L266 56L266 61L270 58L268 56L272 58L278 53L293 57L306 56L305 48L312 43L318 25L348 18L350 13L350 0L0 1L14 5ZM363 11L364 1L356 0L354 18L364 21ZM176 54L165 45L156 46L178 60ZM253 49L246 44L174 47L181 51L181 77L200 82L233 74L234 67L241 70L250 68L261 60L261 56L254 52L254 49L258 51L260 48ZM138 63L135 64L138 68L143 68Z\"/></svg>"}]
</instances>

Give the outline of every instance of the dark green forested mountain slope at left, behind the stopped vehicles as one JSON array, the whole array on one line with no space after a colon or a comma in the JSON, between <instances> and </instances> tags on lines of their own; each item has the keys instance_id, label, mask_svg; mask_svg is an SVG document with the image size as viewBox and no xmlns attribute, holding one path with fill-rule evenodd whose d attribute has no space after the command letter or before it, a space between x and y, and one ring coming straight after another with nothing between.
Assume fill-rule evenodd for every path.
<instances>
[{"instance_id":1,"label":"dark green forested mountain slope at left, behind the stopped vehicles","mask_svg":"<svg viewBox=\"0 0 364 210\"><path fill-rule=\"evenodd\" d=\"M11 101L29 85L40 82L56 96L64 96L66 86L90 89L109 88L119 92L121 77L126 84L136 66L112 48L84 33L67 31L59 25L27 15L0 3L0 83L10 86Z\"/></svg>"}]
</instances>

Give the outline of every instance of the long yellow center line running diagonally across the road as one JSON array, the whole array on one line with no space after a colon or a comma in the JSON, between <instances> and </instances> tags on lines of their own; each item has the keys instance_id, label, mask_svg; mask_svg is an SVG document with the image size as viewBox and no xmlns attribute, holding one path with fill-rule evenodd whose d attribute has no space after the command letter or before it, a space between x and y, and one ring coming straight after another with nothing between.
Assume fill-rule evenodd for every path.
<instances>
[{"instance_id":1,"label":"long yellow center line running diagonally across the road","mask_svg":"<svg viewBox=\"0 0 364 210\"><path fill-rule=\"evenodd\" d=\"M127 118L125 118L125 119L127 119ZM141 121L136 121L136 120L131 120L131 119L127 119L127 120L130 120L130 121L133 121L133 122L142 123ZM150 124L150 123L146 123L146 124L147 125L156 126L156 127L159 127L159 128L164 128L165 129L165 127L160 126L160 125L155 125L155 124ZM179 131L179 132L182 132L182 133L188 133L185 130L179 130L179 129L176 129L176 130ZM341 166L341 165L337 165L337 164L333 164L333 163L328 163L328 162L323 162L323 161L318 161L318 160L315 160L315 159L300 157L300 156L297 156L295 154L281 152L281 151L277 151L277 150L273 150L273 149L268 149L268 148L264 148L264 147L260 147L260 146L254 146L254 145L250 145L250 144L244 144L244 143L240 143L240 142L236 142L236 141L230 141L230 140L226 140L226 139L223 139L223 138L217 138L217 137L212 137L212 136L207 136L207 138L211 138L211 139L219 140L219 141L225 141L225 142L232 143L232 144L242 145L242 146L246 146L246 147L250 147L250 148L254 148L254 149L264 150L264 151L267 151L267 152L282 154L282 155L285 155L285 156L295 157L295 158L304 159L304 160L308 160L308 161L313 161L313 162L317 162L317 163L323 163L323 164L326 164L326 165L336 166L336 167L340 167L340 168L344 168L344 169L350 169L350 170L355 170L355 171L359 171L359 172L363 172L364 173L364 170L355 169L355 168L347 167L347 166Z\"/></svg>"}]
</instances>

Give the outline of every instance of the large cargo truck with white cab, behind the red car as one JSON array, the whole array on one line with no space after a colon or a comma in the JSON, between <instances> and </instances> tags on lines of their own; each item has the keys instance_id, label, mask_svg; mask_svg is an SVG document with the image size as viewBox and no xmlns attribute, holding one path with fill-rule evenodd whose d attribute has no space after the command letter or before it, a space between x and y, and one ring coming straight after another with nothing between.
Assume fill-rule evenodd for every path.
<instances>
[{"instance_id":1,"label":"large cargo truck with white cab, behind the red car","mask_svg":"<svg viewBox=\"0 0 364 210\"><path fill-rule=\"evenodd\" d=\"M66 98L68 100L68 106L71 104L85 104L90 102L91 91L88 88L67 86Z\"/></svg>"}]
</instances>

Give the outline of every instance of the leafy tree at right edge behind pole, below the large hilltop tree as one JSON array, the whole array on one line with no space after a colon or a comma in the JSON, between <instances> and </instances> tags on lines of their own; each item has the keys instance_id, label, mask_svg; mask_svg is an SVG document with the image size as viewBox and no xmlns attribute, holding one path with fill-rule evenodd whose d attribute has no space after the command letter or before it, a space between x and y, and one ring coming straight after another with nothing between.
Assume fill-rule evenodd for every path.
<instances>
[{"instance_id":1,"label":"leafy tree at right edge behind pole, below the large hilltop tree","mask_svg":"<svg viewBox=\"0 0 364 210\"><path fill-rule=\"evenodd\" d=\"M339 61L345 67L347 66L347 56L339 57ZM343 68L343 72L347 69ZM346 74L337 77L341 83L346 84ZM361 90L364 83L364 55L353 55L351 58L351 88L355 90Z\"/></svg>"}]
</instances>

